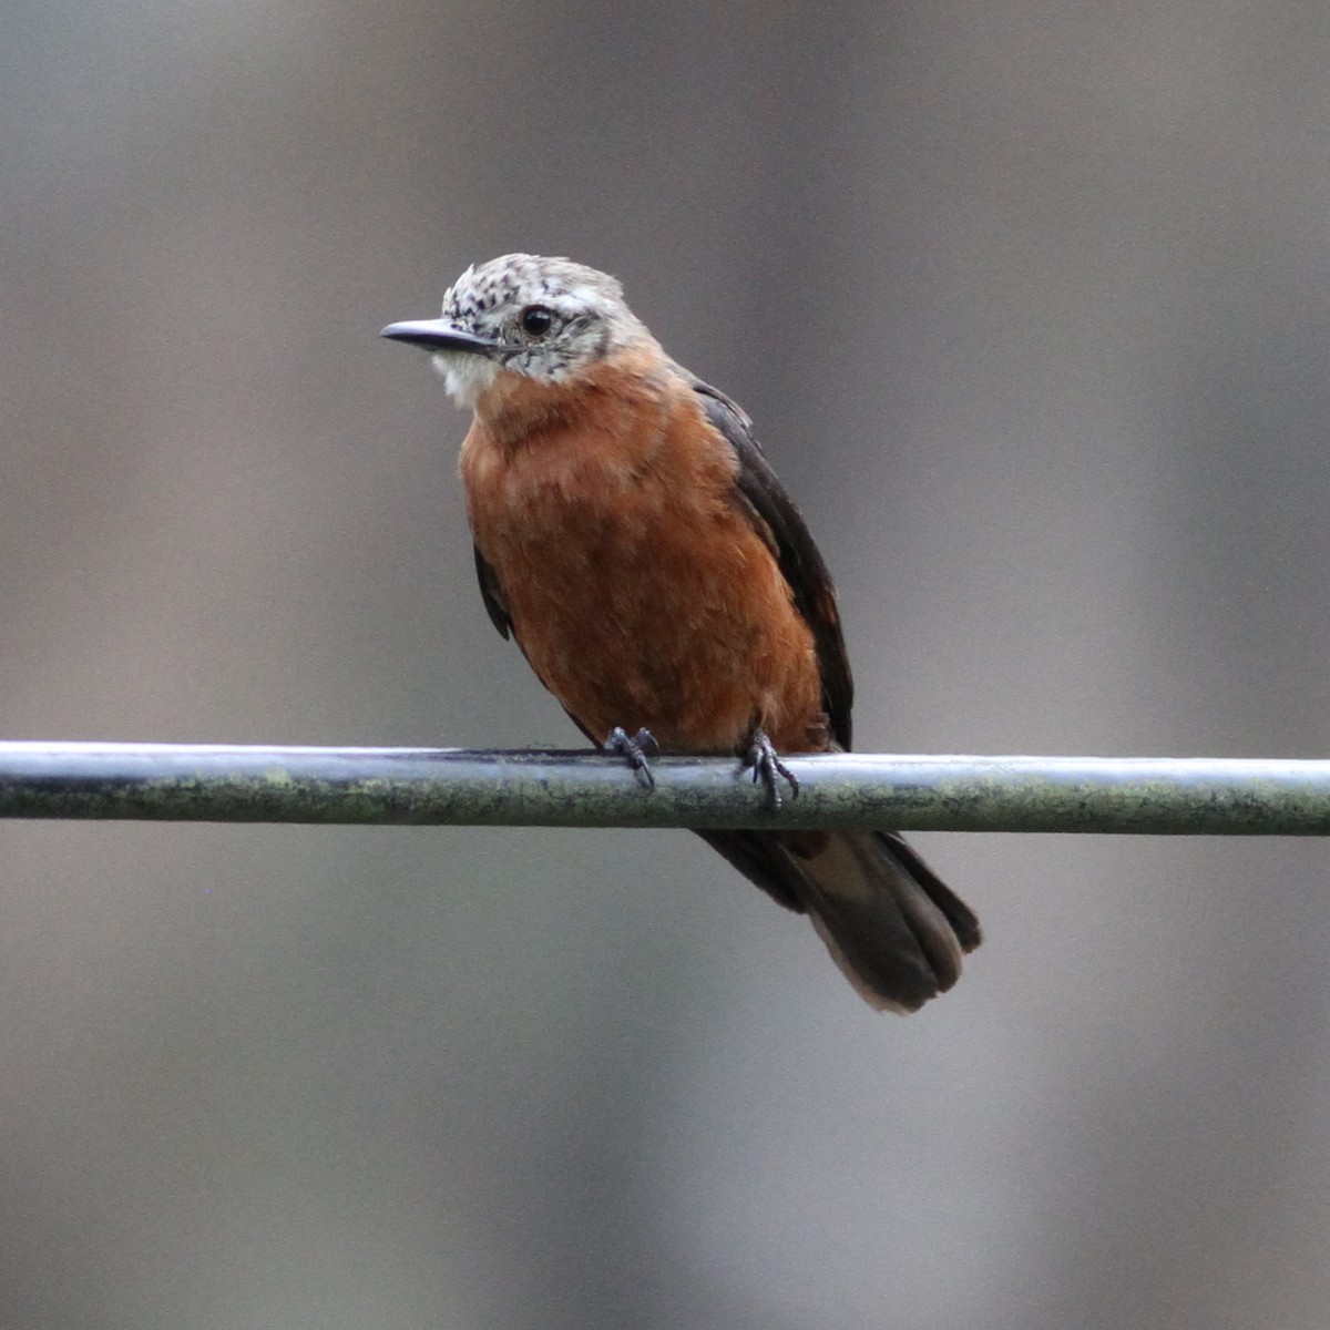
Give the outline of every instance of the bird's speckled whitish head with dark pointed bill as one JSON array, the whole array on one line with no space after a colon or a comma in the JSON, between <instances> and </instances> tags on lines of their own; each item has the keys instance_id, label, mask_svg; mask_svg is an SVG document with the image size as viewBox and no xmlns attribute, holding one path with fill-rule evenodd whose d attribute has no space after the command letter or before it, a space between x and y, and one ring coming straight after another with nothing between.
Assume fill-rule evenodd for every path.
<instances>
[{"instance_id":1,"label":"bird's speckled whitish head with dark pointed bill","mask_svg":"<svg viewBox=\"0 0 1330 1330\"><path fill-rule=\"evenodd\" d=\"M475 407L505 371L560 383L650 339L614 278L536 254L472 265L448 289L440 318L390 323L383 336L428 351L460 407Z\"/></svg>"}]
</instances>

